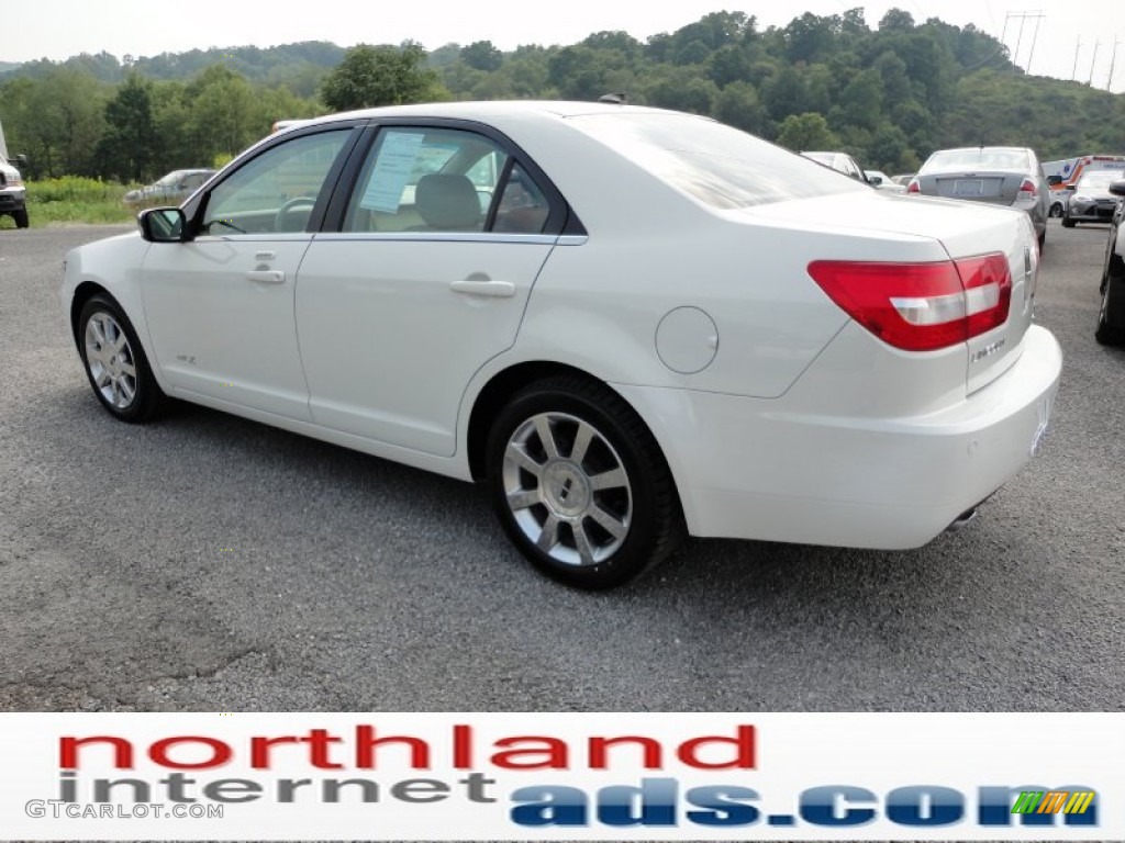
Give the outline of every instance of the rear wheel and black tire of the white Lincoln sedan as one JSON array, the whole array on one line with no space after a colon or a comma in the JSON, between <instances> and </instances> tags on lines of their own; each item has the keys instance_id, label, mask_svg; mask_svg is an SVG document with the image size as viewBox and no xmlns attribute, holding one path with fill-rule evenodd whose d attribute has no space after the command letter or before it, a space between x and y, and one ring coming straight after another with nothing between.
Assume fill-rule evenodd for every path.
<instances>
[{"instance_id":1,"label":"rear wheel and black tire of the white Lincoln sedan","mask_svg":"<svg viewBox=\"0 0 1125 843\"><path fill-rule=\"evenodd\" d=\"M560 375L524 388L494 420L486 459L504 532L567 586L621 586L667 559L686 532L651 432L595 381Z\"/></svg>"}]
</instances>

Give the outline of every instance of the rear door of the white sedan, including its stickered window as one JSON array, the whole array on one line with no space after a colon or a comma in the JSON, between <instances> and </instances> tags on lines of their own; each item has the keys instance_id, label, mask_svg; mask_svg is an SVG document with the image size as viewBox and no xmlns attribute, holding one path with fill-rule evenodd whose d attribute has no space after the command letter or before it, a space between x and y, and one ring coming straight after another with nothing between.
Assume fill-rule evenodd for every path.
<instances>
[{"instance_id":1,"label":"rear door of the white sedan, including its stickered window","mask_svg":"<svg viewBox=\"0 0 1125 843\"><path fill-rule=\"evenodd\" d=\"M560 201L503 138L450 125L380 129L339 230L316 236L298 277L314 420L451 455L461 396L515 342L565 218Z\"/></svg>"}]
</instances>

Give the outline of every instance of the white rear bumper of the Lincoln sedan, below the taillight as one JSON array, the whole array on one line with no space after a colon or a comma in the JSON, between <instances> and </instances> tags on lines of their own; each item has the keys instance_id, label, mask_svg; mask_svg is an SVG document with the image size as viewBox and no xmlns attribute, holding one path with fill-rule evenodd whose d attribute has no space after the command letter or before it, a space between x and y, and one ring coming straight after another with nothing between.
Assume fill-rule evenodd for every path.
<instances>
[{"instance_id":1,"label":"white rear bumper of the Lincoln sedan, below the taillight","mask_svg":"<svg viewBox=\"0 0 1125 843\"><path fill-rule=\"evenodd\" d=\"M618 389L664 447L692 535L902 550L937 536L1028 462L1061 370L1059 343L1033 326L996 381L915 417Z\"/></svg>"}]
</instances>

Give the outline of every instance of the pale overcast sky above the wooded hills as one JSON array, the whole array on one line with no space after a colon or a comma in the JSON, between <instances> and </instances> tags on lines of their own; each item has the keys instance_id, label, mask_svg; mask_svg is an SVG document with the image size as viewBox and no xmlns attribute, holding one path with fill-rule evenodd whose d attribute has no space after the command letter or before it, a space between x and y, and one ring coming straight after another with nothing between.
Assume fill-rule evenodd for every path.
<instances>
[{"instance_id":1,"label":"pale overcast sky above the wooded hills","mask_svg":"<svg viewBox=\"0 0 1125 843\"><path fill-rule=\"evenodd\" d=\"M921 22L974 24L1002 38L1016 63L1037 75L1091 78L1106 88L1116 48L1112 90L1125 90L1125 0L234 0L202 4L156 0L2 0L0 62L66 58L106 51L120 57L192 48L261 47L300 40L357 43L420 42L428 49L448 43L492 40L501 49L520 44L573 44L591 33L623 29L645 39L673 31L711 11L745 11L759 28L784 26L806 11L838 15L862 6L874 28L885 11L900 8ZM1025 17L1012 17L1025 15ZM1043 17L1032 17L1042 15ZM1037 30L1036 30L1037 27ZM1096 43L1100 44L1095 51ZM1077 53L1076 53L1077 47ZM1076 70L1077 56L1077 70Z\"/></svg>"}]
</instances>

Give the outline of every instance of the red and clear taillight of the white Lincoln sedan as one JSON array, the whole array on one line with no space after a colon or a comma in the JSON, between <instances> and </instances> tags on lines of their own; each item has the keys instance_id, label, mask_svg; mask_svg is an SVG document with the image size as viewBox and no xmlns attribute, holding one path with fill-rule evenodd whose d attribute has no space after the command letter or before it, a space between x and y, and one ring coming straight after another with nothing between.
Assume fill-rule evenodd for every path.
<instances>
[{"instance_id":1,"label":"red and clear taillight of the white Lincoln sedan","mask_svg":"<svg viewBox=\"0 0 1125 843\"><path fill-rule=\"evenodd\" d=\"M1011 302L999 252L940 263L813 261L809 274L848 316L906 351L945 348L1004 325Z\"/></svg>"}]
</instances>

